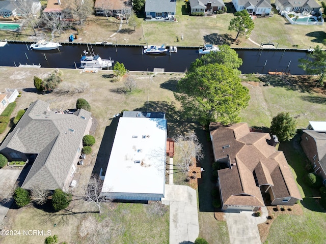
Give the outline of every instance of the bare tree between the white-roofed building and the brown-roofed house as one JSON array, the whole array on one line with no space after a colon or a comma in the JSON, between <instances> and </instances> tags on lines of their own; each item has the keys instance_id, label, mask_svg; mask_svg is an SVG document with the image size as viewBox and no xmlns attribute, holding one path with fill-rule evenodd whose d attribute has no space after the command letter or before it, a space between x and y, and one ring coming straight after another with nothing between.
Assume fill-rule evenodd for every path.
<instances>
[{"instance_id":1,"label":"bare tree between the white-roofed building and the brown-roofed house","mask_svg":"<svg viewBox=\"0 0 326 244\"><path fill-rule=\"evenodd\" d=\"M195 132L179 135L175 138L175 142L181 150L181 167L184 171L189 171L189 166L193 165L194 160L200 160L204 157L202 153L203 146Z\"/></svg>"}]
</instances>

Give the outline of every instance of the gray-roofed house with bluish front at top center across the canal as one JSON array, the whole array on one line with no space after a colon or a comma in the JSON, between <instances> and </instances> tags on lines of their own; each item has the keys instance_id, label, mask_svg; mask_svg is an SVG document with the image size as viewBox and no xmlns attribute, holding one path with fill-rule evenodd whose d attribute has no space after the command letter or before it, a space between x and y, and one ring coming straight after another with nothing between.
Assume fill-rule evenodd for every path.
<instances>
[{"instance_id":1,"label":"gray-roofed house with bluish front at top center across the canal","mask_svg":"<svg viewBox=\"0 0 326 244\"><path fill-rule=\"evenodd\" d=\"M176 13L176 0L147 0L145 2L146 20L174 20Z\"/></svg>"}]
</instances>

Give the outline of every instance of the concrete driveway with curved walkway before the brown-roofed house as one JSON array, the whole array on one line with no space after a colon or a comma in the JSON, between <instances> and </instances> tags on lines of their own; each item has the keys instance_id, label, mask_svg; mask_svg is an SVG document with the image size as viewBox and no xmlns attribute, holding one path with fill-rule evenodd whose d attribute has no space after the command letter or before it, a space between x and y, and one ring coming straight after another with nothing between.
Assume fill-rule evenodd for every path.
<instances>
[{"instance_id":1,"label":"concrete driveway with curved walkway before the brown-roofed house","mask_svg":"<svg viewBox=\"0 0 326 244\"><path fill-rule=\"evenodd\" d=\"M225 212L231 244L261 244L258 224L267 220L268 211L262 208L262 215L254 217L252 211Z\"/></svg>"}]
</instances>

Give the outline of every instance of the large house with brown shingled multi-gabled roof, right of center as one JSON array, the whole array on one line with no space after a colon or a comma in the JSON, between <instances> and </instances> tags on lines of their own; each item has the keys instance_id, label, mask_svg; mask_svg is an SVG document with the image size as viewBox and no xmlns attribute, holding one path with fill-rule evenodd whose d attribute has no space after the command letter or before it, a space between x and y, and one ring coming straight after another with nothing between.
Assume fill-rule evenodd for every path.
<instances>
[{"instance_id":1,"label":"large house with brown shingled multi-gabled roof, right of center","mask_svg":"<svg viewBox=\"0 0 326 244\"><path fill-rule=\"evenodd\" d=\"M269 194L272 205L302 200L282 151L268 133L250 132L247 123L210 123L214 160L220 163L218 185L222 210L256 211Z\"/></svg>"}]
</instances>

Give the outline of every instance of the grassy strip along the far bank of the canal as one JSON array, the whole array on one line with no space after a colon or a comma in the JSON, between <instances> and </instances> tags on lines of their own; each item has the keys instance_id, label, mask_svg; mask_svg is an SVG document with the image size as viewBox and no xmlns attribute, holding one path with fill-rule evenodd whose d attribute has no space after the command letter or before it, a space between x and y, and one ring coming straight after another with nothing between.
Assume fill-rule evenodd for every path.
<instances>
[{"instance_id":1,"label":"grassy strip along the far bank of the canal","mask_svg":"<svg viewBox=\"0 0 326 244\"><path fill-rule=\"evenodd\" d=\"M272 1L273 2L273 1ZM244 37L240 38L240 42L233 43L236 36L235 32L228 31L230 20L234 17L231 9L231 1L225 1L228 6L228 12L225 14L217 14L207 17L189 16L184 8L185 3L181 0L177 1L176 19L177 22L141 22L140 27L133 31L133 27L123 21L122 29L115 36L120 25L120 20L110 17L90 16L83 26L76 25L78 28L78 39L74 42L95 43L101 41L119 43L119 44L161 44L167 46L200 46L206 41L208 43L222 44L226 43L232 47L257 47L256 44ZM308 49L317 44L321 45L321 41L326 39L325 29L323 25L291 25L287 20L278 14L274 9L274 17L257 18L254 20L255 28L250 38L256 43L271 41L278 48L297 48ZM36 38L50 38L50 32L44 29L36 29L37 36L34 36L32 29L26 27L21 34L15 32L0 31L1 40L29 40L35 41ZM71 29L65 31L60 37L56 36L55 40L59 42L68 42L68 38L72 33ZM183 40L180 38L183 36ZM177 37L179 41L177 41ZM296 47L295 47L296 48Z\"/></svg>"}]
</instances>

